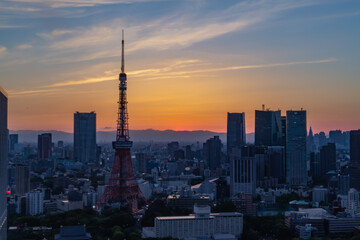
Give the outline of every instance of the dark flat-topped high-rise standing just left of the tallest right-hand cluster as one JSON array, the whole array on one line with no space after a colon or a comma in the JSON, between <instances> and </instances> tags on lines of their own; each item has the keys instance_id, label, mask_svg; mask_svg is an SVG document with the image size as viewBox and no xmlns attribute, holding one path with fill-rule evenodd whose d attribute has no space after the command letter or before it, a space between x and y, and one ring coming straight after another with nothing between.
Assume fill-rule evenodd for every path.
<instances>
[{"instance_id":1,"label":"dark flat-topped high-rise standing just left of the tallest right-hand cluster","mask_svg":"<svg viewBox=\"0 0 360 240\"><path fill-rule=\"evenodd\" d=\"M245 113L228 113L227 118L227 153L232 148L246 144Z\"/></svg>"}]
</instances>

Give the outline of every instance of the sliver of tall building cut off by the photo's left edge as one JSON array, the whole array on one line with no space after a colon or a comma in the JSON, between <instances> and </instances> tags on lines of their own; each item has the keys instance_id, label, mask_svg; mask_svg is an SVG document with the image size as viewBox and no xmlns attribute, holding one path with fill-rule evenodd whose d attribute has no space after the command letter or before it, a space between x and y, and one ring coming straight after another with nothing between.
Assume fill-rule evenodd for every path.
<instances>
[{"instance_id":1,"label":"sliver of tall building cut off by the photo's left edge","mask_svg":"<svg viewBox=\"0 0 360 240\"><path fill-rule=\"evenodd\" d=\"M7 129L7 93L0 87L0 239L6 239L7 231L7 166L8 166L8 135Z\"/></svg>"}]
</instances>

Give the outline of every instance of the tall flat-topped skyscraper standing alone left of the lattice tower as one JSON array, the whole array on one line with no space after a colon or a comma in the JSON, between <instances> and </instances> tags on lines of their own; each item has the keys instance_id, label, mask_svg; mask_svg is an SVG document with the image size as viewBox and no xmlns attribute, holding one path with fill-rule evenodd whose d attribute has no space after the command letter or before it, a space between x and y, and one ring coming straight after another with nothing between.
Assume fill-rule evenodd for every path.
<instances>
[{"instance_id":1,"label":"tall flat-topped skyscraper standing alone left of the lattice tower","mask_svg":"<svg viewBox=\"0 0 360 240\"><path fill-rule=\"evenodd\" d=\"M96 113L74 113L74 159L96 161Z\"/></svg>"}]
</instances>

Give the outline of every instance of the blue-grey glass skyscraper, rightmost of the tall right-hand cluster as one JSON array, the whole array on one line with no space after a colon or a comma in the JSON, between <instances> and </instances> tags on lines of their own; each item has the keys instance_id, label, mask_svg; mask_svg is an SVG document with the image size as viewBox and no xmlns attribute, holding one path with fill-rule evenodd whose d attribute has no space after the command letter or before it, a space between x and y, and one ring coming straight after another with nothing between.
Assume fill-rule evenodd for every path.
<instances>
[{"instance_id":1,"label":"blue-grey glass skyscraper, rightmost of the tall right-hand cluster","mask_svg":"<svg viewBox=\"0 0 360 240\"><path fill-rule=\"evenodd\" d=\"M306 111L287 111L286 122L286 180L292 186L306 186Z\"/></svg>"}]
</instances>

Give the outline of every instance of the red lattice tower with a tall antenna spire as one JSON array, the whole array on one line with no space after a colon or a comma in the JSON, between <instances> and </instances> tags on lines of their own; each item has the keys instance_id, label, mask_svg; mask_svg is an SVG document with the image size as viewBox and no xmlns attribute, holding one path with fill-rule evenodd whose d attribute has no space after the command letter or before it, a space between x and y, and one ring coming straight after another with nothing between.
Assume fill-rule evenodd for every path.
<instances>
[{"instance_id":1,"label":"red lattice tower with a tall antenna spire","mask_svg":"<svg viewBox=\"0 0 360 240\"><path fill-rule=\"evenodd\" d=\"M138 212L138 202L146 203L135 178L131 162L129 126L126 100L126 73L124 69L124 31L122 38L121 73L119 74L119 109L117 117L116 141L113 142L115 157L111 176L105 191L96 204L95 209L101 210L106 204L128 206L133 214Z\"/></svg>"}]
</instances>

